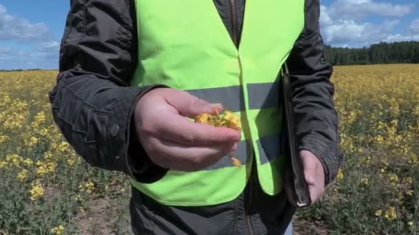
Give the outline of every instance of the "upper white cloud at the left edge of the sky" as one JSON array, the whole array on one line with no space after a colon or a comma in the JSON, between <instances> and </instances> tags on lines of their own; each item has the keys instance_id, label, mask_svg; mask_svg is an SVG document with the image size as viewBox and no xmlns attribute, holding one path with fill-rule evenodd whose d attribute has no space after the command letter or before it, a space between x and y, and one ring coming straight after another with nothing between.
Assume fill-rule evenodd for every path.
<instances>
[{"instance_id":1,"label":"upper white cloud at the left edge of the sky","mask_svg":"<svg viewBox=\"0 0 419 235\"><path fill-rule=\"evenodd\" d=\"M21 43L50 40L52 32L45 23L31 23L27 19L9 14L0 4L0 40L17 40Z\"/></svg>"}]
</instances>

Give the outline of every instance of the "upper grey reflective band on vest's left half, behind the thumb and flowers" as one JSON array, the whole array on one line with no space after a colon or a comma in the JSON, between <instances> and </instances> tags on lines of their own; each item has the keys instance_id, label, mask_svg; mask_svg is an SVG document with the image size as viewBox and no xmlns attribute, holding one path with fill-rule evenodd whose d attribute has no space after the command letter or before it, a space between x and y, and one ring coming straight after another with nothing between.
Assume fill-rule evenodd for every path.
<instances>
[{"instance_id":1,"label":"upper grey reflective band on vest's left half, behind the thumb and flowers","mask_svg":"<svg viewBox=\"0 0 419 235\"><path fill-rule=\"evenodd\" d=\"M194 89L186 91L192 96L196 96L207 102L223 104L224 109L228 109L233 112L245 109L243 89L241 86Z\"/></svg>"}]
</instances>

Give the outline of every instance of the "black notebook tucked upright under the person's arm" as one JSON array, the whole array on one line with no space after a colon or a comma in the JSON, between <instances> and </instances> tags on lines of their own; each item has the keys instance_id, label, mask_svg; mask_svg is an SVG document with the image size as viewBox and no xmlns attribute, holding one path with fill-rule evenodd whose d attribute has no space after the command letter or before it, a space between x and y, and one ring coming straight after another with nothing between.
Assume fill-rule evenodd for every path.
<instances>
[{"instance_id":1,"label":"black notebook tucked upright under the person's arm","mask_svg":"<svg viewBox=\"0 0 419 235\"><path fill-rule=\"evenodd\" d=\"M289 72L287 65L284 64L281 69L283 76L283 100L284 100L284 111L285 119L287 122L287 153L288 161L287 168L292 169L292 182L289 185L292 186L294 200L298 208L303 208L311 204L309 189L304 177L303 164L300 159L298 150L298 144L296 139L296 125L294 123L294 115L292 109L292 86L289 78Z\"/></svg>"}]
</instances>

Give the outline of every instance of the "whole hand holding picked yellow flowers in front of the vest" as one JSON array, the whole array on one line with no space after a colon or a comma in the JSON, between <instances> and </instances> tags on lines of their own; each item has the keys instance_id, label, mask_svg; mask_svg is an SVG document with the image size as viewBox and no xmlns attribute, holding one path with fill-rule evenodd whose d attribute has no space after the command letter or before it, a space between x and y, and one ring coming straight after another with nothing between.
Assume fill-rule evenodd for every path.
<instances>
[{"instance_id":1,"label":"whole hand holding picked yellow flowers in front of the vest","mask_svg":"<svg viewBox=\"0 0 419 235\"><path fill-rule=\"evenodd\" d=\"M221 104L210 104L185 91L156 88L136 104L136 132L154 164L172 170L200 170L236 150L241 133L186 117L222 110Z\"/></svg>"}]
</instances>

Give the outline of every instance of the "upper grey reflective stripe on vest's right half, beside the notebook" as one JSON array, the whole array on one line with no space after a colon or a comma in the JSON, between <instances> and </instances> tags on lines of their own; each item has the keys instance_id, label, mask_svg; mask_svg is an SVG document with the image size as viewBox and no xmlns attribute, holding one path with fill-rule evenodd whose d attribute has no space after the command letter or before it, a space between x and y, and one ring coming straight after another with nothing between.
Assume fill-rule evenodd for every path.
<instances>
[{"instance_id":1,"label":"upper grey reflective stripe on vest's right half, beside the notebook","mask_svg":"<svg viewBox=\"0 0 419 235\"><path fill-rule=\"evenodd\" d=\"M281 82L249 83L249 109L266 109L279 107L282 90Z\"/></svg>"}]
</instances>

